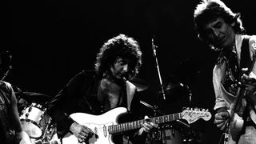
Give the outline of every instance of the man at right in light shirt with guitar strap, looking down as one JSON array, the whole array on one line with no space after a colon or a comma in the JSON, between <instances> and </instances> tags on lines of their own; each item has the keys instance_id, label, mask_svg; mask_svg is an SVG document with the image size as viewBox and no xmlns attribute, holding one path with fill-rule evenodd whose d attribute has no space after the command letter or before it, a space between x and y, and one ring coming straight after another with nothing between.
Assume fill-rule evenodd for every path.
<instances>
[{"instance_id":1,"label":"man at right in light shirt with guitar strap, looking down","mask_svg":"<svg viewBox=\"0 0 256 144\"><path fill-rule=\"evenodd\" d=\"M213 70L214 123L228 132L227 143L255 143L256 37L246 34L240 17L219 0L203 0L194 10L198 38L219 50Z\"/></svg>"}]
</instances>

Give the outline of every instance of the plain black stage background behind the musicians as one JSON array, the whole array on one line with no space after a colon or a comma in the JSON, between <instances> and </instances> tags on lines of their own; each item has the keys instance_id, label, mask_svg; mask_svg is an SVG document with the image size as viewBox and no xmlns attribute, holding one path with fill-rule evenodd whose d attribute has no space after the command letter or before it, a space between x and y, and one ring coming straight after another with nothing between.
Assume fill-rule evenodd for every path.
<instances>
[{"instance_id":1,"label":"plain black stage background behind the musicians","mask_svg":"<svg viewBox=\"0 0 256 144\"><path fill-rule=\"evenodd\" d=\"M5 80L22 91L54 96L81 70L94 69L100 46L118 34L135 38L142 49L143 66L138 74L149 84L140 92L142 101L173 114L182 107L210 110L210 121L198 120L191 127L202 141L216 144L221 131L213 124L212 69L218 52L196 37L194 6L198 0L41 0L3 1L0 52L12 55L13 69ZM255 33L254 6L249 0L225 0L242 13L247 34ZM158 46L157 58L164 86L182 83L159 94L159 78L151 38ZM6 52L8 51L8 52ZM6 73L2 63L1 78ZM9 63L7 64L9 65ZM187 89L187 87L189 89ZM190 93L191 92L191 101ZM142 114L153 110L142 105Z\"/></svg>"}]
</instances>

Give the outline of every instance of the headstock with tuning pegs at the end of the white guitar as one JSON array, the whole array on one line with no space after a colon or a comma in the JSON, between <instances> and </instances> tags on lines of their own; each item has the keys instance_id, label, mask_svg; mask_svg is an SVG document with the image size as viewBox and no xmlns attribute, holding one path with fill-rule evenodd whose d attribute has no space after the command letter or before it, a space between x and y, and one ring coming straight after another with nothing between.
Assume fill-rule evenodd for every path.
<instances>
[{"instance_id":1,"label":"headstock with tuning pegs at the end of the white guitar","mask_svg":"<svg viewBox=\"0 0 256 144\"><path fill-rule=\"evenodd\" d=\"M208 110L189 107L184 108L181 115L182 119L186 119L189 124L197 121L199 118L205 121L209 121L211 118L211 114Z\"/></svg>"}]
</instances>

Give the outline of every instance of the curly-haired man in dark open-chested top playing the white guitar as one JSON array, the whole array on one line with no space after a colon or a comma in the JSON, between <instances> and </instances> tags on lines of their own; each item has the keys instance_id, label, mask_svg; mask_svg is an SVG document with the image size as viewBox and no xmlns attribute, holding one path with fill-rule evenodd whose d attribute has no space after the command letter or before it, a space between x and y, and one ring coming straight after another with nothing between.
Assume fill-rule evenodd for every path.
<instances>
[{"instance_id":1,"label":"curly-haired man in dark open-chested top playing the white guitar","mask_svg":"<svg viewBox=\"0 0 256 144\"><path fill-rule=\"evenodd\" d=\"M97 130L91 130L88 125L74 121L70 114L85 113L101 115L116 107L125 107L129 116L122 118L125 121L139 117L139 99L136 95L136 86L128 80L138 74L142 65L142 51L134 38L119 34L106 41L99 50L95 62L95 70L82 71L71 78L70 82L59 91L50 102L47 113L57 123L58 137L66 138L66 134L74 134L74 143L97 143ZM99 124L106 124L114 115L98 117ZM118 118L120 119L120 118ZM95 120L91 119L95 124ZM90 121L89 117L86 119ZM106 142L98 143L143 143L146 133L157 124L142 123L142 128L119 134ZM105 126L102 126L104 129ZM96 129L96 128L95 128ZM106 130L106 133L109 131ZM96 136L95 136L96 135ZM93 138L94 140L90 140ZM94 142L92 142L94 141ZM63 141L64 143L64 141Z\"/></svg>"}]
</instances>

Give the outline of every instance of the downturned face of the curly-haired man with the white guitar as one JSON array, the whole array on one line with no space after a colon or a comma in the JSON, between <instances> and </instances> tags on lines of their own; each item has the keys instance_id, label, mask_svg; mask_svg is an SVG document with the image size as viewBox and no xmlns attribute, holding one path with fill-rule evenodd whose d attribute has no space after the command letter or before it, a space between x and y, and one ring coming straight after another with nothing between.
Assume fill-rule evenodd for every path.
<instances>
[{"instance_id":1,"label":"downturned face of the curly-haired man with the white guitar","mask_svg":"<svg viewBox=\"0 0 256 144\"><path fill-rule=\"evenodd\" d=\"M114 78L121 80L125 78L130 71L130 60L127 58L117 58L114 65L110 67L110 71Z\"/></svg>"}]
</instances>

